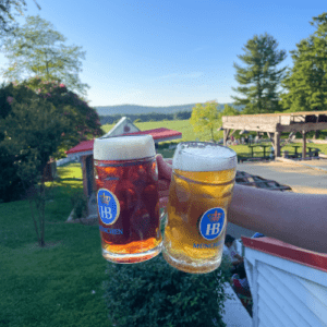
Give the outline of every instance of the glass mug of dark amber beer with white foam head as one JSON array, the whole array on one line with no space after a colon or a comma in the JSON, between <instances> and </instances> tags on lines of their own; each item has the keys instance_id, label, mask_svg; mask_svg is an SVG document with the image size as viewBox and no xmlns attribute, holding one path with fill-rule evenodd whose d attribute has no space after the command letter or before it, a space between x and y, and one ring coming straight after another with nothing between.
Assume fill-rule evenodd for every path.
<instances>
[{"instance_id":1,"label":"glass mug of dark amber beer with white foam head","mask_svg":"<svg viewBox=\"0 0 327 327\"><path fill-rule=\"evenodd\" d=\"M110 262L138 263L161 251L155 155L150 135L95 140L101 247Z\"/></svg>"}]
</instances>

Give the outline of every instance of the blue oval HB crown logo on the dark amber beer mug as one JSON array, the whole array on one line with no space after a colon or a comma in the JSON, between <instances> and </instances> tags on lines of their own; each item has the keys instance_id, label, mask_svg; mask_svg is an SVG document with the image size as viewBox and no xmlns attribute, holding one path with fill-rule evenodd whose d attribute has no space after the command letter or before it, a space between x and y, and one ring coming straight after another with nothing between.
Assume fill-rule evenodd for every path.
<instances>
[{"instance_id":1,"label":"blue oval HB crown logo on the dark amber beer mug","mask_svg":"<svg viewBox=\"0 0 327 327\"><path fill-rule=\"evenodd\" d=\"M100 189L97 194L98 211L105 225L112 225L119 217L120 205L113 193L107 189Z\"/></svg>"}]
</instances>

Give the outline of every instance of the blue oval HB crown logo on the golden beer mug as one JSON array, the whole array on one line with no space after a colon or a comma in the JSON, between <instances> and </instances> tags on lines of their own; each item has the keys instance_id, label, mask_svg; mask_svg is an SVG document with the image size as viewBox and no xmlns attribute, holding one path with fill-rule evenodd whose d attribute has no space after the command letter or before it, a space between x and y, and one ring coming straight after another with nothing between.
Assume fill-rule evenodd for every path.
<instances>
[{"instance_id":1,"label":"blue oval HB crown logo on the golden beer mug","mask_svg":"<svg viewBox=\"0 0 327 327\"><path fill-rule=\"evenodd\" d=\"M211 208L205 211L199 220L199 233L208 241L217 239L222 232L225 219L222 208Z\"/></svg>"}]
</instances>

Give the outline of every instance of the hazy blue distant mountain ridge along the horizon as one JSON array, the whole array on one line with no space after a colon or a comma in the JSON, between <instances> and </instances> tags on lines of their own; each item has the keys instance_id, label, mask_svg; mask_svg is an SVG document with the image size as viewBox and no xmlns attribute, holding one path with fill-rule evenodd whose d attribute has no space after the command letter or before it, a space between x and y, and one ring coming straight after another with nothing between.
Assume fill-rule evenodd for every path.
<instances>
[{"instance_id":1,"label":"hazy blue distant mountain ridge along the horizon","mask_svg":"<svg viewBox=\"0 0 327 327\"><path fill-rule=\"evenodd\" d=\"M150 107L137 105L120 105L120 106L101 106L94 107L99 116L113 116L113 114L141 114L141 113L174 113L179 111L192 111L196 104L181 105L181 106L167 106L167 107ZM218 109L222 110L225 105L233 106L233 104L221 104ZM238 110L242 110L242 106L233 106Z\"/></svg>"}]
</instances>

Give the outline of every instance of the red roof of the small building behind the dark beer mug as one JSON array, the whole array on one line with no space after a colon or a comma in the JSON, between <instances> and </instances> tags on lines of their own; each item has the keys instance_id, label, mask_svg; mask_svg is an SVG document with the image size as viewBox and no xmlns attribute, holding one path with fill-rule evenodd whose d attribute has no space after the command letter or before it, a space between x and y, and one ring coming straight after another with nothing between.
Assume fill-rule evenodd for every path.
<instances>
[{"instance_id":1,"label":"red roof of the small building behind the dark beer mug","mask_svg":"<svg viewBox=\"0 0 327 327\"><path fill-rule=\"evenodd\" d=\"M179 137L182 136L181 132L168 130L165 128L161 129L155 129L155 130L148 130L148 131L140 131L134 133L125 133L123 135L152 135L154 137L154 141L161 140L161 142L165 142L165 138L170 137ZM94 140L90 141L84 141L77 144L76 146L72 147L68 152L65 152L68 155L71 154L77 154L77 153L84 153L84 152L90 152L93 150Z\"/></svg>"}]
</instances>

